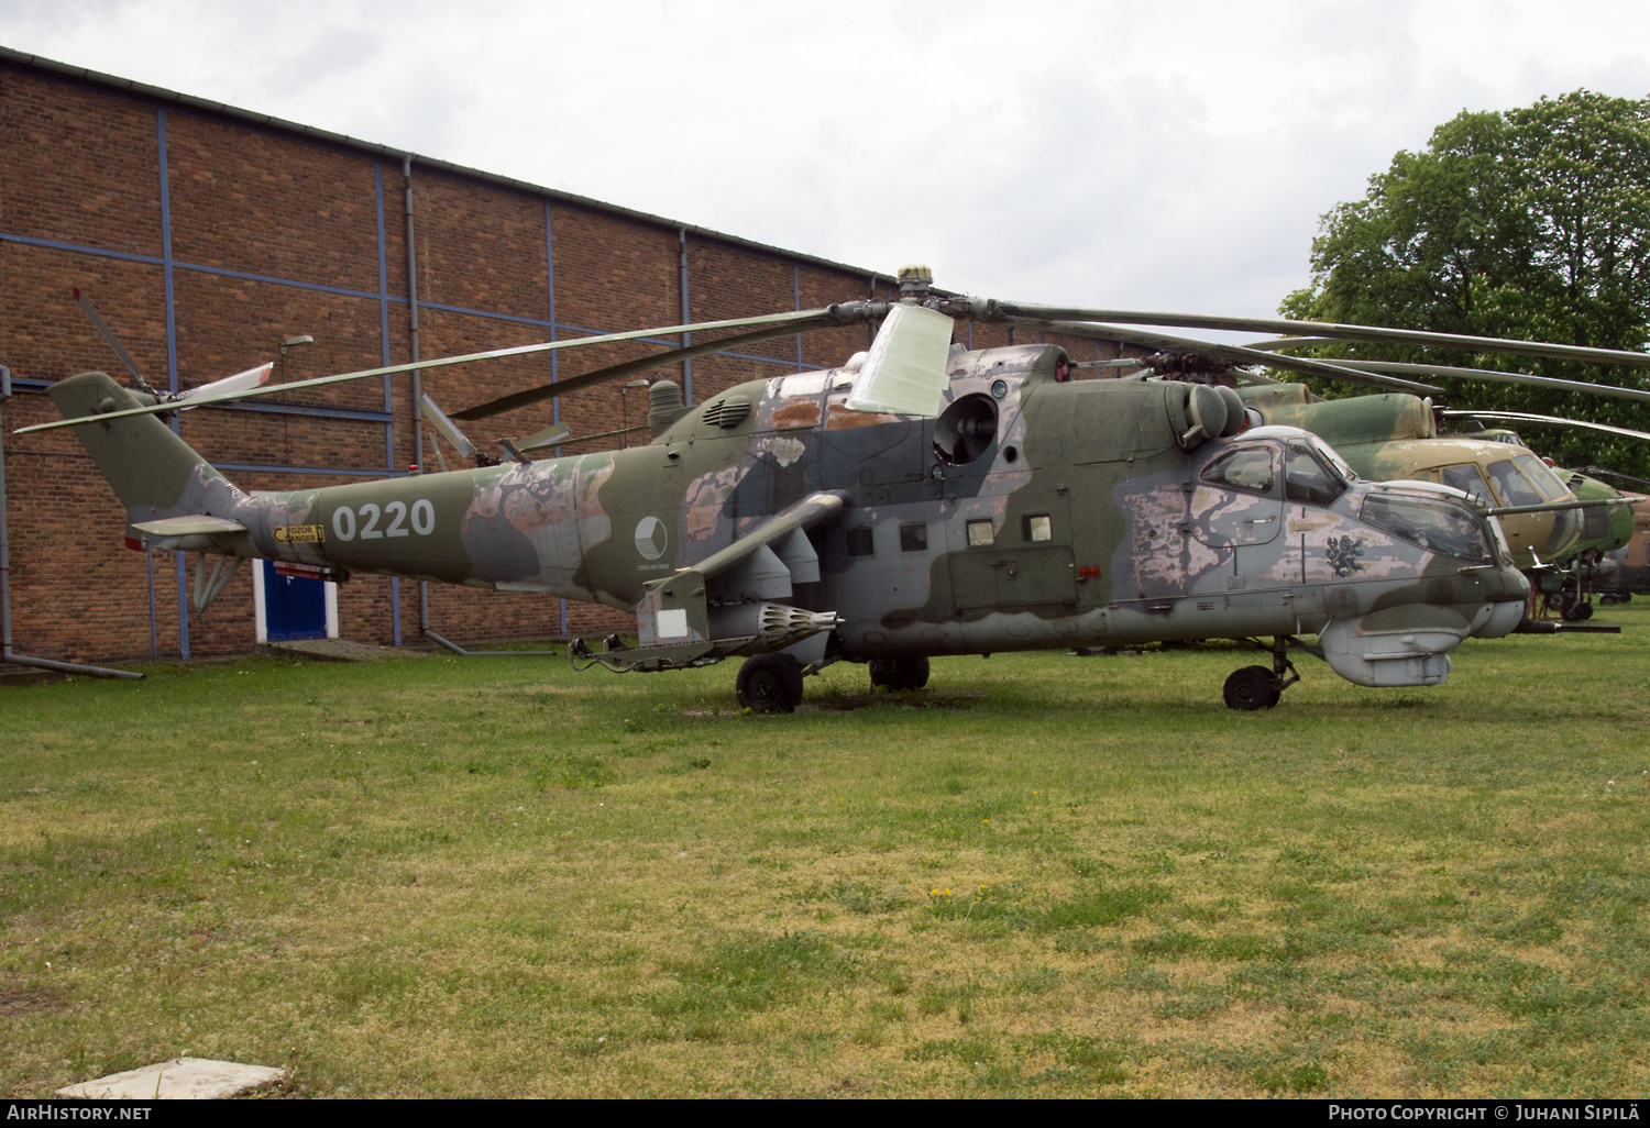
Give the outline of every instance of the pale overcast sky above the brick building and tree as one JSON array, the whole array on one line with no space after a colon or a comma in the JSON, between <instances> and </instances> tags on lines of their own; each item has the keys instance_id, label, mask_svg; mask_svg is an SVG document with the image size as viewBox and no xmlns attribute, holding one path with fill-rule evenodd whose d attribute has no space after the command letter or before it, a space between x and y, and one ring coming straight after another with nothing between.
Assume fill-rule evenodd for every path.
<instances>
[{"instance_id":1,"label":"pale overcast sky above the brick building and tree","mask_svg":"<svg viewBox=\"0 0 1650 1128\"><path fill-rule=\"evenodd\" d=\"M1642 0L0 0L0 43L972 294L1251 315L1462 109L1650 94Z\"/></svg>"}]
</instances>

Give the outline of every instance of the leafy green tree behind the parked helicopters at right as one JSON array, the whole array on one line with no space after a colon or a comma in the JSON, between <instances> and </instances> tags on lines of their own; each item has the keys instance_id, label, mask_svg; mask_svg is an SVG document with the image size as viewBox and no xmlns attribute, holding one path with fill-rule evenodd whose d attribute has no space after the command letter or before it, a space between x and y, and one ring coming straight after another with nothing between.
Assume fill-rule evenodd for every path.
<instances>
[{"instance_id":1,"label":"leafy green tree behind the parked helicopters at right","mask_svg":"<svg viewBox=\"0 0 1650 1128\"><path fill-rule=\"evenodd\" d=\"M1506 112L1462 112L1421 153L1399 152L1363 200L1322 218L1312 285L1287 317L1643 351L1650 336L1650 97L1576 91ZM1346 348L1322 356L1351 355ZM1434 360L1650 388L1643 369L1500 355ZM1510 384L1442 381L1452 406L1647 429L1642 404ZM1327 394L1345 389L1325 389ZM1643 444L1584 432L1525 437L1564 465L1650 467Z\"/></svg>"}]
</instances>

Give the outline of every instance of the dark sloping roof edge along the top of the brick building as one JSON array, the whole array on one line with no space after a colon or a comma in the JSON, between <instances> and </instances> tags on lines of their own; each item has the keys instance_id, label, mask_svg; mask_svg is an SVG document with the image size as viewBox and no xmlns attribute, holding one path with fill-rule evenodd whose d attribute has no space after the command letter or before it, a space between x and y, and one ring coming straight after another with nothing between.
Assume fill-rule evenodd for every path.
<instances>
[{"instance_id":1,"label":"dark sloping roof edge along the top of the brick building","mask_svg":"<svg viewBox=\"0 0 1650 1128\"><path fill-rule=\"evenodd\" d=\"M602 203L601 200L591 200L589 196L579 196L569 191L556 191L554 188L544 188L543 185L533 185L525 180L515 180L513 176L500 176L497 173L482 172L480 168L455 165L449 160L421 157L419 153L412 153L403 148L391 148L389 145L380 145L376 142L360 140L356 137L348 137L346 134L333 134L325 129L315 129L314 125L289 122L282 117L274 117L271 114L257 114L254 110L244 110L236 106L228 106L224 102L213 102L205 97L195 97L193 94L180 94L177 91L168 91L160 86L148 86L147 82L124 79L116 74L91 71L86 69L84 66L69 66L68 63L58 63L56 59L41 58L38 54L26 54L23 51L15 51L7 46L0 46L0 64L10 64L21 71L40 71L43 74L68 78L78 82L84 82L87 86L97 86L109 91L117 91L120 94L147 99L152 102L167 102L172 106L182 106L200 114L210 114L238 122L248 122L251 125L257 125L259 129L269 129L280 134L292 134L295 137L305 137L310 140L325 142L328 145L350 148L373 157L391 157L398 162L411 158L414 165L421 165L434 172L465 176L487 185L497 185L500 188L520 191L528 196L540 196L543 200L551 200L564 206L584 208L587 211L599 211L604 214L617 216L620 219L629 219L630 223L645 223L670 231L685 229L688 236L696 239L723 242L731 247L742 247L746 251L756 251L759 254L780 257L789 262L802 262L808 266L823 267L828 270L840 270L843 274L856 277L866 277L866 279L874 277L878 282L884 285L898 285L898 280L894 277L881 274L878 270L866 270L863 267L848 266L845 262L833 262L830 259L822 259L818 256L802 254L799 251L787 251L785 247L776 247L766 242L756 242L754 239L741 239L739 236L728 234L726 231L713 231L711 228L700 228L691 223L681 223L680 219L668 219L665 216L655 216L647 211L635 211L634 208L620 208L619 204Z\"/></svg>"}]
</instances>

